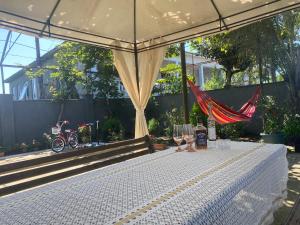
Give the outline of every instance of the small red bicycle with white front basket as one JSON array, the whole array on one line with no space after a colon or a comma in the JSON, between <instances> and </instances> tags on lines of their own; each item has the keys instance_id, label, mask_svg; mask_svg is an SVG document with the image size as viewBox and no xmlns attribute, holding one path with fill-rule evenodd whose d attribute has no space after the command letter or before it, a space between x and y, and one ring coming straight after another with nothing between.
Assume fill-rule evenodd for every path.
<instances>
[{"instance_id":1,"label":"small red bicycle with white front basket","mask_svg":"<svg viewBox=\"0 0 300 225\"><path fill-rule=\"evenodd\" d=\"M77 133L74 130L66 129L62 131L62 127L69 122L58 121L55 127L52 127L52 134L55 137L52 139L51 149L54 152L62 152L66 145L70 145L73 149L78 146L78 137Z\"/></svg>"}]
</instances>

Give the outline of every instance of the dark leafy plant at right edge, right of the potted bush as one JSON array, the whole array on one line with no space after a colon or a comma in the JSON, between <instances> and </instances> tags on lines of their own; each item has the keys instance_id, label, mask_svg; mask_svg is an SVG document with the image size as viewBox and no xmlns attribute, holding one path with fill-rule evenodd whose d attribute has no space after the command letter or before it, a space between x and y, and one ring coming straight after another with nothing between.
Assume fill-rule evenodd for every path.
<instances>
[{"instance_id":1,"label":"dark leafy plant at right edge, right of the potted bush","mask_svg":"<svg viewBox=\"0 0 300 225\"><path fill-rule=\"evenodd\" d=\"M300 152L300 115L286 115L283 128L284 136L288 143L295 146L295 152Z\"/></svg>"}]
</instances>

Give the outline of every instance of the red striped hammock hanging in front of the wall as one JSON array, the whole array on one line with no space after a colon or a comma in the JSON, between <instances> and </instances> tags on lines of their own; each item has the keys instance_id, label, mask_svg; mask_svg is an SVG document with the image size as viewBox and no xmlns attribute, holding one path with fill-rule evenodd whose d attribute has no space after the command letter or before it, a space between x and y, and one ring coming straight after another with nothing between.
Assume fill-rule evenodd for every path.
<instances>
[{"instance_id":1,"label":"red striped hammock hanging in front of the wall","mask_svg":"<svg viewBox=\"0 0 300 225\"><path fill-rule=\"evenodd\" d=\"M240 121L249 121L256 110L256 104L261 94L261 88L257 87L253 96L238 111L234 111L228 106L214 100L204 91L195 86L193 82L188 81L192 92L197 98L201 110L208 115L208 106L211 104L212 114L219 124L236 123Z\"/></svg>"}]
</instances>

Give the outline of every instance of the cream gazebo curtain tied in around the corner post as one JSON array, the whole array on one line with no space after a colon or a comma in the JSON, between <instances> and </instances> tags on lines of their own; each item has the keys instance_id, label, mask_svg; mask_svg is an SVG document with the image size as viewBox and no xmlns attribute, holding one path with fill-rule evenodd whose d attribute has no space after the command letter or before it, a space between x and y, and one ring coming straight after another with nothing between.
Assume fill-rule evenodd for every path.
<instances>
[{"instance_id":1,"label":"cream gazebo curtain tied in around the corner post","mask_svg":"<svg viewBox=\"0 0 300 225\"><path fill-rule=\"evenodd\" d=\"M153 45L156 44L156 42L152 41L149 44ZM138 90L134 54L113 50L114 64L136 110L135 138L149 134L144 111L151 96L151 91L159 73L165 52L166 47L161 47L138 53Z\"/></svg>"}]
</instances>

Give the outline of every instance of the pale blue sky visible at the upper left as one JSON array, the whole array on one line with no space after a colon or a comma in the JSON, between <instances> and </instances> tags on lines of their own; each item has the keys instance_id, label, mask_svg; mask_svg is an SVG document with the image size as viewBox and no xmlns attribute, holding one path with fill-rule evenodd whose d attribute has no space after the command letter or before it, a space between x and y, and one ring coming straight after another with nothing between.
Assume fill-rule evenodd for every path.
<instances>
[{"instance_id":1,"label":"pale blue sky visible at the upper left","mask_svg":"<svg viewBox=\"0 0 300 225\"><path fill-rule=\"evenodd\" d=\"M8 30L0 29L0 54L1 55L5 44L7 33ZM12 39L9 44L13 43L18 35L19 33L13 32ZM44 55L46 52L50 51L51 49L53 49L61 42L62 41L56 39L41 38L40 39L41 56ZM16 44L11 48L3 64L26 66L29 63L35 61L35 57L36 57L36 52L35 52L34 37L22 34L19 37L19 39L16 41ZM18 70L19 69L16 68L4 67L4 79L10 77ZM0 79L0 83L1 83L1 79ZM5 91L6 93L9 93L8 84L5 85ZM2 84L0 85L0 93L2 93Z\"/></svg>"}]
</instances>

